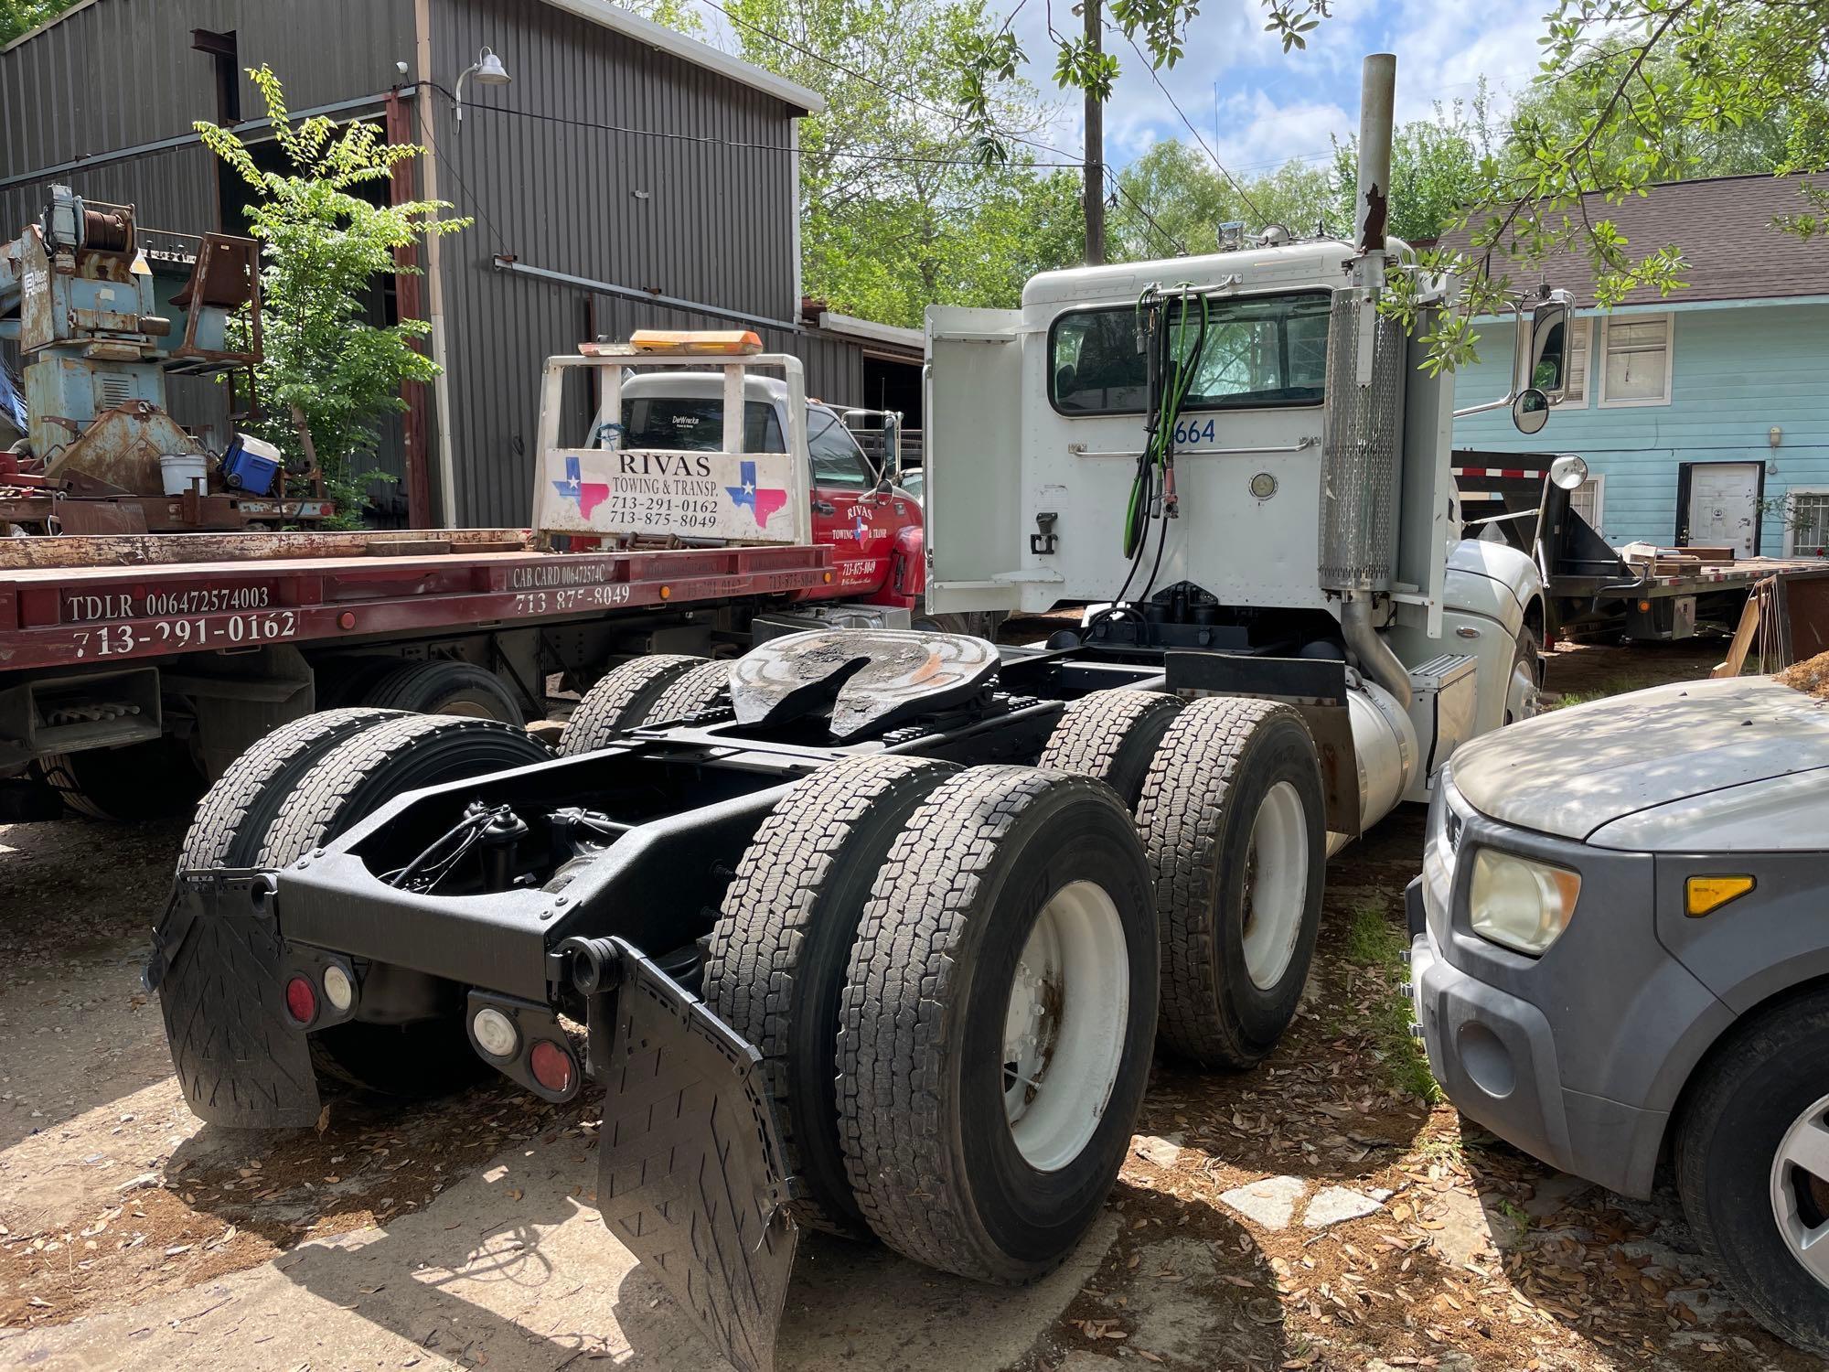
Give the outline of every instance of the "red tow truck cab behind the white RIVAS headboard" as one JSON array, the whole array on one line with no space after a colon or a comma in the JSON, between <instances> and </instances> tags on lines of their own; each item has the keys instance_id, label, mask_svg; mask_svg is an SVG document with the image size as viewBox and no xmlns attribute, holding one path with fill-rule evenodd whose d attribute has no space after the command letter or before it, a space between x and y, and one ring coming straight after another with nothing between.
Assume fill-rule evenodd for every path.
<instances>
[{"instance_id":1,"label":"red tow truck cab behind the white RIVAS headboard","mask_svg":"<svg viewBox=\"0 0 1829 1372\"><path fill-rule=\"evenodd\" d=\"M785 450L788 404L779 377L744 377L746 452ZM622 382L622 432L615 439L626 448L711 452L722 441L722 423L721 373L653 371ZM920 501L894 485L893 470L871 461L838 410L814 399L807 401L807 470L812 540L838 551L832 584L814 596L914 609L924 587Z\"/></svg>"}]
</instances>

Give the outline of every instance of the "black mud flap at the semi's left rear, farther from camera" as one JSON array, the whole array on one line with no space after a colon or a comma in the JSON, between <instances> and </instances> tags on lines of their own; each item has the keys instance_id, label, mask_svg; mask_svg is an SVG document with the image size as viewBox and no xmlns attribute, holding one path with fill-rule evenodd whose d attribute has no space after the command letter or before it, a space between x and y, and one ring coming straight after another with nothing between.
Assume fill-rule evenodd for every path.
<instances>
[{"instance_id":1,"label":"black mud flap at the semi's left rear, farther from camera","mask_svg":"<svg viewBox=\"0 0 1829 1372\"><path fill-rule=\"evenodd\" d=\"M282 951L269 873L179 873L152 933L146 988L159 993L185 1103L205 1123L318 1120L311 1050L285 1013Z\"/></svg>"}]
</instances>

